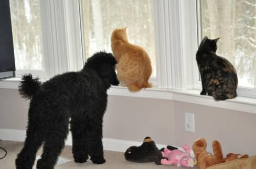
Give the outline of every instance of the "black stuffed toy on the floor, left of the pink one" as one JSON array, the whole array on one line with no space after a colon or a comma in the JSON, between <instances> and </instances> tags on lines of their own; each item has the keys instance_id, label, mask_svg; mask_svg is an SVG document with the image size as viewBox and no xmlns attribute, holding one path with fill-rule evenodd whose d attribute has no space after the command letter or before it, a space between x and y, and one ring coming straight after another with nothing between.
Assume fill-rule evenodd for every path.
<instances>
[{"instance_id":1,"label":"black stuffed toy on the floor, left of the pink one","mask_svg":"<svg viewBox=\"0 0 256 169\"><path fill-rule=\"evenodd\" d=\"M167 146L167 148L169 150L177 149L172 146ZM137 163L155 162L156 164L161 164L160 162L163 158L161 151L159 151L155 142L150 137L146 137L141 146L132 146L127 149L124 156L127 161Z\"/></svg>"}]
</instances>

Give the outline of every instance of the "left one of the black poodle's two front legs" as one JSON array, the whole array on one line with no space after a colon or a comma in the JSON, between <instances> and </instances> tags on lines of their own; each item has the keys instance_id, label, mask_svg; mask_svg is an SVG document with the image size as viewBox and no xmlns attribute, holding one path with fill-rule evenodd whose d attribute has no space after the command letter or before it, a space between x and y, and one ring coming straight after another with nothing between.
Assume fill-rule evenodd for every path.
<instances>
[{"instance_id":1,"label":"left one of the black poodle's two front legs","mask_svg":"<svg viewBox=\"0 0 256 169\"><path fill-rule=\"evenodd\" d=\"M87 119L71 117L72 153L76 163L84 163L88 159L87 123Z\"/></svg>"}]
</instances>

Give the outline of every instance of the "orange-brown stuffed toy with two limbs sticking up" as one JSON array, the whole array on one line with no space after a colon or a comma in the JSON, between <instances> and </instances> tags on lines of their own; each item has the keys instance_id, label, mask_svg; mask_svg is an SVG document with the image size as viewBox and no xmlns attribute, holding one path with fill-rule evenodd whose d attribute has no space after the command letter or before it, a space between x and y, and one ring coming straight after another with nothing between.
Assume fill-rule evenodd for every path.
<instances>
[{"instance_id":1,"label":"orange-brown stuffed toy with two limbs sticking up","mask_svg":"<svg viewBox=\"0 0 256 169\"><path fill-rule=\"evenodd\" d=\"M199 169L205 169L211 165L224 163L226 161L231 161L237 159L240 154L227 154L226 158L223 158L221 145L219 141L215 140L212 142L212 149L214 150L214 155L209 155L206 151L206 140L200 138L196 140L193 144L193 151L197 160L197 167ZM242 155L240 158L248 158L248 155Z\"/></svg>"}]
</instances>

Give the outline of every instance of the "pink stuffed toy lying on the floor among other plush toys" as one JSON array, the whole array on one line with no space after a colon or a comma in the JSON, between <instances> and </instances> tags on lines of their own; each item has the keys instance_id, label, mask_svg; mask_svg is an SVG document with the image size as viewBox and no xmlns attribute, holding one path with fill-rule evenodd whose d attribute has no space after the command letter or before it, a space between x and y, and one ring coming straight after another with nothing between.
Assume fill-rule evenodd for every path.
<instances>
[{"instance_id":1,"label":"pink stuffed toy lying on the floor among other plush toys","mask_svg":"<svg viewBox=\"0 0 256 169\"><path fill-rule=\"evenodd\" d=\"M183 145L183 149L185 152L180 150L168 150L164 149L162 155L164 158L162 159L162 164L172 165L176 164L177 166L185 166L185 167L194 167L194 159L190 156L190 150L186 144Z\"/></svg>"}]
</instances>

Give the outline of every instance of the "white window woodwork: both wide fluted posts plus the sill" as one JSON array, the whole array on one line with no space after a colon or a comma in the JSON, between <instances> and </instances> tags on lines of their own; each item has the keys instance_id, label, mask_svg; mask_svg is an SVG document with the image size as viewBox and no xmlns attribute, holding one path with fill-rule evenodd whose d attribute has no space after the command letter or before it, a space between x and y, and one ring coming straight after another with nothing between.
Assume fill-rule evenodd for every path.
<instances>
[{"instance_id":1,"label":"white window woodwork: both wide fluted posts plus the sill","mask_svg":"<svg viewBox=\"0 0 256 169\"><path fill-rule=\"evenodd\" d=\"M195 33L195 1L154 0L157 77L151 79L157 86L137 93L129 92L123 87L112 87L108 93L176 100L256 113L255 98L239 95L236 99L216 102L211 96L199 94L193 77L198 73L195 61L198 43ZM41 4L44 8L42 24L45 55L49 65L46 78L81 69L83 61L79 1L44 0ZM14 78L0 81L0 88L17 89L19 80Z\"/></svg>"}]
</instances>

